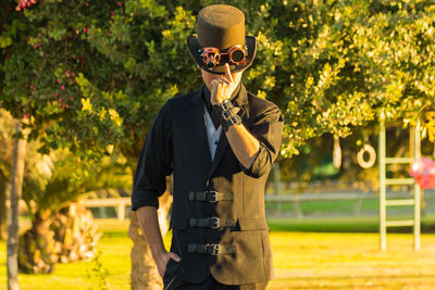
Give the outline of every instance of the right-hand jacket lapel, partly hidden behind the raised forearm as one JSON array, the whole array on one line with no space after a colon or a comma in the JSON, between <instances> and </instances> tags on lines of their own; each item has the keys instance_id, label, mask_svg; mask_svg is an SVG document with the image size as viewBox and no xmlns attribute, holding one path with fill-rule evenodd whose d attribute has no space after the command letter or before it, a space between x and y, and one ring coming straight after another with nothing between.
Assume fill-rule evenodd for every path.
<instances>
[{"instance_id":1,"label":"right-hand jacket lapel, partly hidden behind the raised forearm","mask_svg":"<svg viewBox=\"0 0 435 290\"><path fill-rule=\"evenodd\" d=\"M238 115L243 119L243 124L247 126L247 106L248 106L248 93L246 91L245 86L241 84L240 92L238 93L236 100L235 100L236 106L240 108L240 111L238 112ZM207 133L206 133L207 136ZM219 163L221 162L222 156L225 153L226 148L228 147L228 140L226 139L225 133L222 130L221 137L219 138L219 143L216 148L216 153L214 154L214 160L213 160L213 165L210 169L209 173L209 178L211 175L214 173L214 171L217 168Z\"/></svg>"}]
</instances>

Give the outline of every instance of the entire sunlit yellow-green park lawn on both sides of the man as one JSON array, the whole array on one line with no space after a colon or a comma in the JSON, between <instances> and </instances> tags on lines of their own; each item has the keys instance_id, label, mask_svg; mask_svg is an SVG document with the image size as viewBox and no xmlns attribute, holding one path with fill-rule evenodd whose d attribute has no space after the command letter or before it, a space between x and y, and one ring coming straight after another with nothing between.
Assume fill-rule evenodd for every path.
<instances>
[{"instance_id":1,"label":"entire sunlit yellow-green park lawn on both sides of the man","mask_svg":"<svg viewBox=\"0 0 435 290\"><path fill-rule=\"evenodd\" d=\"M355 225L357 222L353 219ZM98 243L101 252L98 260L58 264L50 275L20 275L21 289L99 289L104 279L110 283L109 289L129 289L129 220L97 219L97 223L103 232ZM323 220L321 227L336 223ZM302 224L315 229L316 223ZM375 232L287 231L298 223L279 219L270 220L270 225L275 279L268 289L435 289L434 234L422 235L422 249L418 253L412 250L412 235L388 234L388 250L383 253ZM0 241L0 289L7 289L5 263L5 242Z\"/></svg>"}]
</instances>

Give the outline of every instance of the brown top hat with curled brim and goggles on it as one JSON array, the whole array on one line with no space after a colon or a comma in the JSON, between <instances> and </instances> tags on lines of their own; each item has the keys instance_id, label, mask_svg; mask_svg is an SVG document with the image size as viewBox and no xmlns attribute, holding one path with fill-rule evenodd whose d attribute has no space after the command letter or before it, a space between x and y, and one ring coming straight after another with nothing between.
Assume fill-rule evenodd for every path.
<instances>
[{"instance_id":1,"label":"brown top hat with curled brim and goggles on it","mask_svg":"<svg viewBox=\"0 0 435 290\"><path fill-rule=\"evenodd\" d=\"M224 74L246 70L256 56L256 38L245 36L245 15L235 7L216 4L198 13L197 35L187 37L194 61L207 72ZM216 50L217 49L217 50Z\"/></svg>"}]
</instances>

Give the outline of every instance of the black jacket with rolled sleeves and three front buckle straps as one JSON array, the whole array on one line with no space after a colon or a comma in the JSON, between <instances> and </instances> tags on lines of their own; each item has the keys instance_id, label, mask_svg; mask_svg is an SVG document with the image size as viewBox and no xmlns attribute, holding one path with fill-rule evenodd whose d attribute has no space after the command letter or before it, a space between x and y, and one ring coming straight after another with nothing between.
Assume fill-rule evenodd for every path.
<instances>
[{"instance_id":1,"label":"black jacket with rolled sleeves and three front buckle straps","mask_svg":"<svg viewBox=\"0 0 435 290\"><path fill-rule=\"evenodd\" d=\"M132 209L159 206L165 190L165 176L173 173L173 229L171 251L182 261L170 260L169 274L200 282L209 274L226 285L271 279L272 255L265 220L264 187L275 161L283 130L279 109L241 86L234 103L239 106L245 127L260 141L260 152L245 168L228 146L225 134L211 161L206 131L202 89L169 100L156 117L134 178ZM219 202L189 200L190 191L215 190L233 193L233 200ZM190 218L231 219L231 228L197 228ZM233 254L209 255L188 251L190 243L231 244Z\"/></svg>"}]
</instances>

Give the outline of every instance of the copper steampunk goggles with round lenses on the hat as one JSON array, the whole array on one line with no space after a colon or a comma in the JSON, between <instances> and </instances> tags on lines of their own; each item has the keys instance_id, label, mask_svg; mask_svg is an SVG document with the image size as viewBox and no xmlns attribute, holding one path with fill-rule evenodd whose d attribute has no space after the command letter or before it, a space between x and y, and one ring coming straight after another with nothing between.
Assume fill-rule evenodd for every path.
<instances>
[{"instance_id":1,"label":"copper steampunk goggles with round lenses on the hat","mask_svg":"<svg viewBox=\"0 0 435 290\"><path fill-rule=\"evenodd\" d=\"M207 67L212 68L217 66L221 61L229 64L238 65L246 60L248 48L246 46L236 45L222 52L219 48L202 48L199 50L202 56L202 62Z\"/></svg>"}]
</instances>

